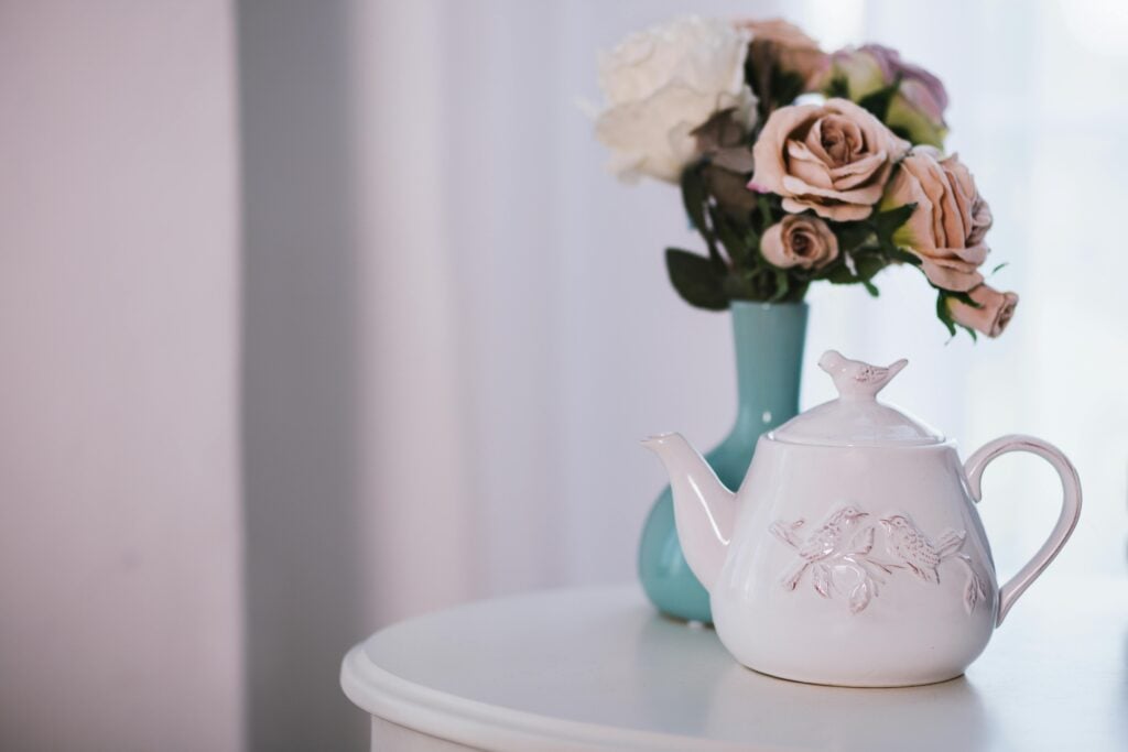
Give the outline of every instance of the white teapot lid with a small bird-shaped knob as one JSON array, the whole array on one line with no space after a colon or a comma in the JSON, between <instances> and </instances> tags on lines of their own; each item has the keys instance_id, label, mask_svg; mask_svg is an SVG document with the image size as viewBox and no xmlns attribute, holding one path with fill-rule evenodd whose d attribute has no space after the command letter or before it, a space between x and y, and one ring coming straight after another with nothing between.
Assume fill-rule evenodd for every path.
<instances>
[{"instance_id":1,"label":"white teapot lid with a small bird-shaped knob","mask_svg":"<svg viewBox=\"0 0 1128 752\"><path fill-rule=\"evenodd\" d=\"M944 436L925 423L878 401L878 392L908 365L907 360L881 368L852 361L834 350L819 359L830 374L838 399L795 416L768 434L774 441L822 446L922 446Z\"/></svg>"}]
</instances>

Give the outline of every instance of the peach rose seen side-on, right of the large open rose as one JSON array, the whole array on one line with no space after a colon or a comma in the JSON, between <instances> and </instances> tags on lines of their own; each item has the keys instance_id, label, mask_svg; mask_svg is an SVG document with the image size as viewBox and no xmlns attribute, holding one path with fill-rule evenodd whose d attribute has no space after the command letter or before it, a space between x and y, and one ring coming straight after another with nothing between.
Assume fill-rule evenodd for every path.
<instances>
[{"instance_id":1,"label":"peach rose seen side-on, right of the large open rose","mask_svg":"<svg viewBox=\"0 0 1128 752\"><path fill-rule=\"evenodd\" d=\"M959 157L917 147L901 160L881 206L909 203L916 211L893 233L893 242L920 258L929 282L958 292L982 283L979 265L987 258L990 207Z\"/></svg>"}]
</instances>

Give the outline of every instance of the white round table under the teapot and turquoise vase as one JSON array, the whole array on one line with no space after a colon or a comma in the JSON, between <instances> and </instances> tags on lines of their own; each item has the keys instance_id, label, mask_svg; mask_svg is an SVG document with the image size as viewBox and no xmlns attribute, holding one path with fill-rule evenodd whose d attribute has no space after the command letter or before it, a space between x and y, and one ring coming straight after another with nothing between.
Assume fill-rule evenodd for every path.
<instances>
[{"instance_id":1,"label":"white round table under the teapot and turquoise vase","mask_svg":"<svg viewBox=\"0 0 1128 752\"><path fill-rule=\"evenodd\" d=\"M350 651L341 683L381 751L1125 752L1126 663L1125 580L1038 583L966 676L908 689L758 674L622 586L395 625Z\"/></svg>"}]
</instances>

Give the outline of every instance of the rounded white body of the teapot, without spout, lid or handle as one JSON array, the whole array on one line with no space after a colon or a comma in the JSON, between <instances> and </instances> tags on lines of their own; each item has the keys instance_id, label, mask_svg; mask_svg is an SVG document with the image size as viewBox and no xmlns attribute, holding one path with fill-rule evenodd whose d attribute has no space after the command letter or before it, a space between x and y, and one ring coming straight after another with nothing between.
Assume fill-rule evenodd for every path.
<instances>
[{"instance_id":1,"label":"rounded white body of the teapot, without spout, lid or handle","mask_svg":"<svg viewBox=\"0 0 1128 752\"><path fill-rule=\"evenodd\" d=\"M990 548L952 442L759 440L711 591L746 666L796 681L900 687L963 673L995 628Z\"/></svg>"}]
</instances>

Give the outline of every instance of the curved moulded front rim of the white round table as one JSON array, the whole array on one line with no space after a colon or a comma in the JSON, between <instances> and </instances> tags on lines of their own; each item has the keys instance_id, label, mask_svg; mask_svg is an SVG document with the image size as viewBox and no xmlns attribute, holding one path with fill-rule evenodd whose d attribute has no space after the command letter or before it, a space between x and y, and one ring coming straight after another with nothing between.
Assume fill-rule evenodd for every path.
<instances>
[{"instance_id":1,"label":"curved moulded front rim of the white round table","mask_svg":"<svg viewBox=\"0 0 1128 752\"><path fill-rule=\"evenodd\" d=\"M423 734L496 752L654 750L655 752L750 752L747 745L673 734L561 720L468 700L406 681L368 660L364 643L341 664L341 688L369 715ZM755 747L757 752L782 752Z\"/></svg>"}]
</instances>

